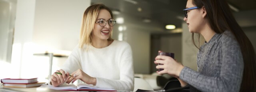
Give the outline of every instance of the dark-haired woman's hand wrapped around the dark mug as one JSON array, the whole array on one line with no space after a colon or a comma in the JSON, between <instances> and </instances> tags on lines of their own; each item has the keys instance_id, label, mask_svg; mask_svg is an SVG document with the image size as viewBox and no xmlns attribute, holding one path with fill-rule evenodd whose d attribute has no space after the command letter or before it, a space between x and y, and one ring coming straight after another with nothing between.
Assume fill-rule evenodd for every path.
<instances>
[{"instance_id":1,"label":"dark-haired woman's hand wrapped around the dark mug","mask_svg":"<svg viewBox=\"0 0 256 92\"><path fill-rule=\"evenodd\" d=\"M181 70L184 68L182 64L171 58L170 56L158 55L155 58L155 64L159 64L156 66L157 69L164 69L162 71L157 71L158 74L170 74L176 78L179 78ZM163 64L163 65L160 65Z\"/></svg>"}]
</instances>

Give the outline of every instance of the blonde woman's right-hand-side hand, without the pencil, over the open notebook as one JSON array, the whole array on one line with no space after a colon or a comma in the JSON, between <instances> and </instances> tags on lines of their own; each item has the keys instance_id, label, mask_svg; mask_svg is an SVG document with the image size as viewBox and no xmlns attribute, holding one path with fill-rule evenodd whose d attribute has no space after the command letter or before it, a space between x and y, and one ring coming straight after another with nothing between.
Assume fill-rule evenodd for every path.
<instances>
[{"instance_id":1,"label":"blonde woman's right-hand-side hand, without the pencil, over the open notebook","mask_svg":"<svg viewBox=\"0 0 256 92\"><path fill-rule=\"evenodd\" d=\"M88 74L84 73L81 69L72 72L71 76L69 76L66 80L66 83L69 84L71 81L72 83L74 83L78 79L82 80L86 84L96 85L96 78L89 76Z\"/></svg>"}]
</instances>

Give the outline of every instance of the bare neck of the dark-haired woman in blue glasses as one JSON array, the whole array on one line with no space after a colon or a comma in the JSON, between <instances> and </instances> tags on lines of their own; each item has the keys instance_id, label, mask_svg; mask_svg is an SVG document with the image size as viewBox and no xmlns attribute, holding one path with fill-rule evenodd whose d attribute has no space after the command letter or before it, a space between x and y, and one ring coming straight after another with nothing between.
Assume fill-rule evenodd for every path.
<instances>
[{"instance_id":1,"label":"bare neck of the dark-haired woman in blue glasses","mask_svg":"<svg viewBox=\"0 0 256 92\"><path fill-rule=\"evenodd\" d=\"M206 24L206 26L202 28L202 32L200 32L200 34L204 37L206 42L209 42L216 32L214 32L214 30L212 30L210 26Z\"/></svg>"}]
</instances>

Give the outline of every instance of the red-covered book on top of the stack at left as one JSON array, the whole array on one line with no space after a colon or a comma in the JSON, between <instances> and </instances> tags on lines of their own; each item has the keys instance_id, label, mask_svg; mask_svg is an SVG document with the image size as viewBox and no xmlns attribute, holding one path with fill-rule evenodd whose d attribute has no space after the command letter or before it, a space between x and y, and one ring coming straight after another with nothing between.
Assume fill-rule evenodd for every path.
<instances>
[{"instance_id":1,"label":"red-covered book on top of the stack at left","mask_svg":"<svg viewBox=\"0 0 256 92\"><path fill-rule=\"evenodd\" d=\"M37 83L37 78L30 78L30 79L14 79L14 78L5 78L1 79L1 83L4 84L32 84Z\"/></svg>"}]
</instances>

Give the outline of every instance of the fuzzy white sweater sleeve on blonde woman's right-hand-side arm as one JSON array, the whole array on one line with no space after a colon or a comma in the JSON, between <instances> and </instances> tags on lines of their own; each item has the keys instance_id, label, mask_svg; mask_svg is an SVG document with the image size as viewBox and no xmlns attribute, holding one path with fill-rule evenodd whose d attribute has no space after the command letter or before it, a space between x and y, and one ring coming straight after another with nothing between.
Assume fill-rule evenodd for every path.
<instances>
[{"instance_id":1,"label":"fuzzy white sweater sleeve on blonde woman's right-hand-side arm","mask_svg":"<svg viewBox=\"0 0 256 92\"><path fill-rule=\"evenodd\" d=\"M96 77L97 87L113 88L115 90L133 91L134 88L134 69L132 60L132 49L127 43L122 51L120 61L120 80L110 80Z\"/></svg>"}]
</instances>

